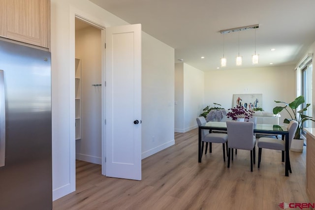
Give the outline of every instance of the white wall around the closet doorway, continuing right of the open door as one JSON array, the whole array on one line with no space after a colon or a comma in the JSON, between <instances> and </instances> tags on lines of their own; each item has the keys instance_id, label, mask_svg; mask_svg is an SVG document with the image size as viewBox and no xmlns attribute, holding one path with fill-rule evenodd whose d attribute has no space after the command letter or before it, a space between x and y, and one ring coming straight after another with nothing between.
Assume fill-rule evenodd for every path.
<instances>
[{"instance_id":1,"label":"white wall around the closet doorway, continuing right of the open door","mask_svg":"<svg viewBox=\"0 0 315 210\"><path fill-rule=\"evenodd\" d=\"M53 200L75 190L75 14L104 28L128 24L89 0L51 0ZM174 141L174 49L142 38L142 151L149 155Z\"/></svg>"}]
</instances>

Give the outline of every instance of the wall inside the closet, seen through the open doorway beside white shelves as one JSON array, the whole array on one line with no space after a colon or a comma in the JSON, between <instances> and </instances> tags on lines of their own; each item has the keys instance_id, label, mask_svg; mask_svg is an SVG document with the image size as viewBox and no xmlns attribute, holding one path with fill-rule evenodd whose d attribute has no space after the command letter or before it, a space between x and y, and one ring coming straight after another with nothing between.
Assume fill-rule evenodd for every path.
<instances>
[{"instance_id":1,"label":"wall inside the closet, seen through the open doorway beside white shelves","mask_svg":"<svg viewBox=\"0 0 315 210\"><path fill-rule=\"evenodd\" d=\"M101 31L88 27L75 32L75 57L81 59L81 139L76 159L101 164Z\"/></svg>"}]
</instances>

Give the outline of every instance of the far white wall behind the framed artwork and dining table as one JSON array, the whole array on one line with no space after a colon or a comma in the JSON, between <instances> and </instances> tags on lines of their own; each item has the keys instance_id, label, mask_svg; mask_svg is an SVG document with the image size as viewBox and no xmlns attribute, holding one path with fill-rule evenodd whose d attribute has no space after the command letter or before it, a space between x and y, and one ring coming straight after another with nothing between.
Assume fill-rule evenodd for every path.
<instances>
[{"instance_id":1,"label":"far white wall behind the framed artwork and dining table","mask_svg":"<svg viewBox=\"0 0 315 210\"><path fill-rule=\"evenodd\" d=\"M261 67L205 72L205 104L221 104L222 108L233 106L233 94L262 93L262 108L272 112L279 104L274 101L291 102L295 99L295 66ZM199 110L201 113L202 110ZM287 117L281 112L283 122Z\"/></svg>"}]
</instances>

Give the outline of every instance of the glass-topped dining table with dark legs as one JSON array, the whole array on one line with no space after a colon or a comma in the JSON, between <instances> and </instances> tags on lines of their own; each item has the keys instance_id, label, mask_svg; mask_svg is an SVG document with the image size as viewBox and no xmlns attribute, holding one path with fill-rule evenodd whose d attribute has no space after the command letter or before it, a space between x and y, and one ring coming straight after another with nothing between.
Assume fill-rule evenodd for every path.
<instances>
[{"instance_id":1,"label":"glass-topped dining table with dark legs","mask_svg":"<svg viewBox=\"0 0 315 210\"><path fill-rule=\"evenodd\" d=\"M209 130L209 133L212 131L227 131L226 122L216 122L209 121L198 126L198 162L201 163L202 151L201 151L201 131L203 129ZM290 168L290 157L289 157L289 131L287 130L287 125L273 125L273 124L254 124L253 128L254 133L266 134L266 135L282 135L283 140L285 141L285 169L284 174L286 177L289 176ZM228 141L228 140L227 140ZM282 140L279 140L282 141Z\"/></svg>"}]
</instances>

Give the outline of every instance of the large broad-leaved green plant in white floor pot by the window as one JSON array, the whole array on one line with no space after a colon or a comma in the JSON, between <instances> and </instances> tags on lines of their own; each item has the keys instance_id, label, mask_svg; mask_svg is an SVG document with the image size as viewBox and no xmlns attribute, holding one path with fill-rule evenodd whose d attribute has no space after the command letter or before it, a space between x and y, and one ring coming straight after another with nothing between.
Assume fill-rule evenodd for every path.
<instances>
[{"instance_id":1,"label":"large broad-leaved green plant in white floor pot by the window","mask_svg":"<svg viewBox=\"0 0 315 210\"><path fill-rule=\"evenodd\" d=\"M297 111L298 107L301 104L304 104L304 102L305 102L303 95L300 95L299 97L295 98L294 101L292 101L289 104L285 103L283 101L275 101L275 102L285 104L285 106L276 106L273 109L273 113L275 115L280 113L282 110L286 110L286 112L289 114L291 119L284 119L284 123L289 123L291 120L297 121L298 127L296 129L294 139L292 140L292 143L291 143L291 150L302 152L303 151L303 145L304 145L304 140L301 139L301 131L303 130L303 123L307 120L315 121L312 119L312 117L309 117L309 116L303 114L304 111L306 111L307 108L311 104L306 104L306 106L303 109Z\"/></svg>"}]
</instances>

